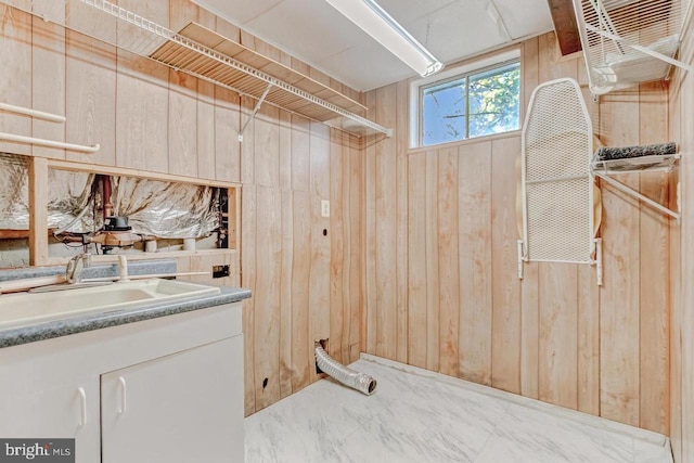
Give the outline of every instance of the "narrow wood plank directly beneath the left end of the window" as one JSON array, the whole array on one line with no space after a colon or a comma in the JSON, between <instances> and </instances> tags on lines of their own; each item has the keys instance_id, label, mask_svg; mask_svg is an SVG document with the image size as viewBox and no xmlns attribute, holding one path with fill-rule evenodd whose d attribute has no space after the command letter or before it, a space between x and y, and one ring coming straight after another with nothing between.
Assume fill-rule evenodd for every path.
<instances>
[{"instance_id":1,"label":"narrow wood plank directly beneath the left end of the window","mask_svg":"<svg viewBox=\"0 0 694 463\"><path fill-rule=\"evenodd\" d=\"M409 156L408 169L408 363L426 368L427 241L426 164L429 153Z\"/></svg>"}]
</instances>

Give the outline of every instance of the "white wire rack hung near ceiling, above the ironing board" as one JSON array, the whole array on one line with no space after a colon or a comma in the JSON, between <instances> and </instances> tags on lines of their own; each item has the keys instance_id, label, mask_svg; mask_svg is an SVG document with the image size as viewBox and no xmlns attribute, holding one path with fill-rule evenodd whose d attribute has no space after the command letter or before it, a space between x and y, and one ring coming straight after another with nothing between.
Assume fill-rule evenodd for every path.
<instances>
[{"instance_id":1,"label":"white wire rack hung near ceiling, above the ironing board","mask_svg":"<svg viewBox=\"0 0 694 463\"><path fill-rule=\"evenodd\" d=\"M691 0L574 0L593 94L667 78Z\"/></svg>"}]
</instances>

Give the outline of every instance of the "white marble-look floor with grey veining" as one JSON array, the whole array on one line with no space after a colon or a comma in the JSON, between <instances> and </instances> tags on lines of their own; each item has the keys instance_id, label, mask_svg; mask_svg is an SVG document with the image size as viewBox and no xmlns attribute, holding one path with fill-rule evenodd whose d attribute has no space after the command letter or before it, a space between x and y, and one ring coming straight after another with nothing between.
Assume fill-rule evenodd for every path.
<instances>
[{"instance_id":1,"label":"white marble-look floor with grey veining","mask_svg":"<svg viewBox=\"0 0 694 463\"><path fill-rule=\"evenodd\" d=\"M638 429L377 358L350 366L376 394L326 378L248 416L246 463L671 463Z\"/></svg>"}]
</instances>

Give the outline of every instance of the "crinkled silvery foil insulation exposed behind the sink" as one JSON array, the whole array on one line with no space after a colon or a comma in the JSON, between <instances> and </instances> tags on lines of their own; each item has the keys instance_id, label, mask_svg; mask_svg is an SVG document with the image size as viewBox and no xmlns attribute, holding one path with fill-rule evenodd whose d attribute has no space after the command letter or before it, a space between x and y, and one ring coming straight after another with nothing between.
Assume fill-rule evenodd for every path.
<instances>
[{"instance_id":1,"label":"crinkled silvery foil insulation exposed behind the sink","mask_svg":"<svg viewBox=\"0 0 694 463\"><path fill-rule=\"evenodd\" d=\"M49 228L69 226L66 231L87 233L102 226L98 217L94 227L95 177L49 170ZM218 189L125 177L113 177L112 183L114 214L127 216L136 233L164 239L205 237L219 228ZM0 153L0 229L28 228L27 158Z\"/></svg>"}]
</instances>

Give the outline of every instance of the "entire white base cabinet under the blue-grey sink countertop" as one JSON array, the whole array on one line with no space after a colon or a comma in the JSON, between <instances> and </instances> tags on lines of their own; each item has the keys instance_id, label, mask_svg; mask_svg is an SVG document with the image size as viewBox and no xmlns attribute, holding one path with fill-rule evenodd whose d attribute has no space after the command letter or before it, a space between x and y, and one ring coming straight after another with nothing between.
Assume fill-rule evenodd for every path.
<instances>
[{"instance_id":1,"label":"entire white base cabinet under the blue-grey sink countertop","mask_svg":"<svg viewBox=\"0 0 694 463\"><path fill-rule=\"evenodd\" d=\"M243 461L241 304L0 348L0 437L77 463Z\"/></svg>"}]
</instances>

